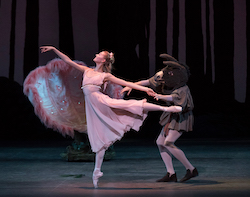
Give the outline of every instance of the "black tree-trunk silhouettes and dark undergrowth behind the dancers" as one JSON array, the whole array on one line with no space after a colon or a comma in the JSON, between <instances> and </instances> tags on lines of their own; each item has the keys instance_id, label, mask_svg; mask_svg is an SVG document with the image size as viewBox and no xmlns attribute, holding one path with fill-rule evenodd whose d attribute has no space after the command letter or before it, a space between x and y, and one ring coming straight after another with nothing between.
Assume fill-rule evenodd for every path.
<instances>
[{"instance_id":1,"label":"black tree-trunk silhouettes and dark undergrowth behind the dancers","mask_svg":"<svg viewBox=\"0 0 250 197\"><path fill-rule=\"evenodd\" d=\"M1 2L1 1L0 1ZM186 63L191 69L188 83L195 102L195 129L185 134L186 138L227 138L249 137L249 69L245 102L235 100L234 87L234 2L233 0L213 1L214 12L214 61L215 81L212 81L212 57L210 50L209 26L207 26L206 54L201 26L201 1L185 1ZM209 11L209 1L206 1ZM12 29L15 28L15 4L12 1ZM163 65L158 58L167 51L168 15L167 0L156 0L155 32L150 32L150 1L99 0L98 39L99 50L112 49L116 55L114 74L131 81L149 78L149 36L155 34L155 71ZM249 1L246 1L247 63L249 64ZM223 14L221 14L223 10ZM27 0L26 32L24 48L24 77L38 64L39 1ZM71 19L71 1L58 1L59 47L74 58L74 37ZM178 59L179 1L173 5L173 56ZM205 20L209 21L209 15ZM10 40L10 58L13 58L15 37ZM206 72L204 72L206 62ZM22 86L13 79L14 63L10 61L9 78L0 78L1 88L1 137L3 138L61 138L56 132L44 128L34 115L32 105L22 93ZM147 97L134 91L129 98ZM149 101L153 101L148 98ZM127 137L155 138L159 133L160 113L149 113L147 121L138 134L128 133Z\"/></svg>"}]
</instances>

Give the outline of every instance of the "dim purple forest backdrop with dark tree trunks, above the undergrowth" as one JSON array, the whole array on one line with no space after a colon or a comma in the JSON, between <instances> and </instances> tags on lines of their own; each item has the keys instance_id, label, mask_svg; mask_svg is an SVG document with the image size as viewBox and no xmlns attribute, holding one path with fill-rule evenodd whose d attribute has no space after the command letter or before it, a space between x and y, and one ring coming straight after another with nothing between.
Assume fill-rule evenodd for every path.
<instances>
[{"instance_id":1,"label":"dim purple forest backdrop with dark tree trunks, above the undergrowth","mask_svg":"<svg viewBox=\"0 0 250 197\"><path fill-rule=\"evenodd\" d=\"M114 74L131 81L161 69L159 54L173 55L190 67L197 114L223 111L235 114L224 122L237 116L244 125L249 15L247 0L0 0L1 108L28 110L13 87L56 57L41 55L39 46L54 45L90 65L99 50L112 50ZM1 117L6 113L1 109Z\"/></svg>"}]
</instances>

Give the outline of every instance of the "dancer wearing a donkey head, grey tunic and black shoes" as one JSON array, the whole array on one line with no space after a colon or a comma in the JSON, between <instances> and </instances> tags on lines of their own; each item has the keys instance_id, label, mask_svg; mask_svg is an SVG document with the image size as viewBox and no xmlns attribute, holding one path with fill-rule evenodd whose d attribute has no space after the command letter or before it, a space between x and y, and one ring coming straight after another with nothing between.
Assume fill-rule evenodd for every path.
<instances>
[{"instance_id":1,"label":"dancer wearing a donkey head, grey tunic and black shoes","mask_svg":"<svg viewBox=\"0 0 250 197\"><path fill-rule=\"evenodd\" d=\"M161 54L161 58L166 65L161 71L147 80L137 82L138 85L150 86L157 93L155 99L160 99L169 105L178 105L183 108L182 112L169 113L163 112L160 117L160 124L163 126L156 141L162 160L165 163L167 174L157 180L157 182L177 182L177 176L172 163L172 155L177 158L186 168L186 175L180 180L185 182L190 178L198 176L197 169L188 161L184 152L175 146L175 141L183 132L193 129L193 99L188 86L189 68L180 64L175 58L168 54ZM125 87L122 92L131 89Z\"/></svg>"}]
</instances>

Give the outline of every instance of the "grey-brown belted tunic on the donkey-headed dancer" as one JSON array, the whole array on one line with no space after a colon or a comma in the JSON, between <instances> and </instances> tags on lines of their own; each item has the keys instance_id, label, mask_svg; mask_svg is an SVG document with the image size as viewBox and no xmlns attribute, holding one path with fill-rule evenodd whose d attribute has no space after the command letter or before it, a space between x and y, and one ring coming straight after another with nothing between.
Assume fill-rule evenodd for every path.
<instances>
[{"instance_id":1,"label":"grey-brown belted tunic on the donkey-headed dancer","mask_svg":"<svg viewBox=\"0 0 250 197\"><path fill-rule=\"evenodd\" d=\"M150 87L161 94L166 94L162 91L159 92L159 86L154 77L149 79ZM161 88L160 88L161 89ZM168 128L176 131L192 131L194 116L193 116L193 99L190 93L190 90L187 85L182 86L176 90L174 90L171 94L173 97L172 102L166 102L168 106L170 105L178 105L183 108L183 111L180 113L169 113L163 112L160 117L160 124L162 126L169 123Z\"/></svg>"}]
</instances>

